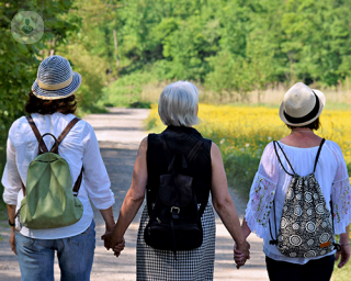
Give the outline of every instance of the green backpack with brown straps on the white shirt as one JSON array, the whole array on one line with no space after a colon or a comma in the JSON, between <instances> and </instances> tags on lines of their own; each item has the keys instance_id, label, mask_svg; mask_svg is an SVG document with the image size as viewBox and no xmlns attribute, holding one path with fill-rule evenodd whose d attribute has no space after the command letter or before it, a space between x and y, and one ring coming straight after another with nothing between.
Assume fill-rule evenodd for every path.
<instances>
[{"instance_id":1,"label":"green backpack with brown straps on the white shirt","mask_svg":"<svg viewBox=\"0 0 351 281\"><path fill-rule=\"evenodd\" d=\"M26 119L38 140L38 156L30 164L26 188L22 183L24 199L16 215L20 213L21 223L32 229L72 225L83 214L83 205L77 198L83 167L72 189L69 166L58 155L58 146L80 119L73 119L57 139L50 133L41 136L33 119ZM46 135L55 139L50 151L43 140Z\"/></svg>"}]
</instances>

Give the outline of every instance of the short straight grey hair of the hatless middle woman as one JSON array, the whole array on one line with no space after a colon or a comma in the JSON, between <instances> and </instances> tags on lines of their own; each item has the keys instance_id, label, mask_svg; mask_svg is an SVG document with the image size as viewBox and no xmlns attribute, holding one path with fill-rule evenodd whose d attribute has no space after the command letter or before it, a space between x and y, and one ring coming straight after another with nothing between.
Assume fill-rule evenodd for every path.
<instances>
[{"instance_id":1,"label":"short straight grey hair of the hatless middle woman","mask_svg":"<svg viewBox=\"0 0 351 281\"><path fill-rule=\"evenodd\" d=\"M167 126L193 126L199 123L196 105L199 91L188 81L167 86L158 102L158 114Z\"/></svg>"}]
</instances>

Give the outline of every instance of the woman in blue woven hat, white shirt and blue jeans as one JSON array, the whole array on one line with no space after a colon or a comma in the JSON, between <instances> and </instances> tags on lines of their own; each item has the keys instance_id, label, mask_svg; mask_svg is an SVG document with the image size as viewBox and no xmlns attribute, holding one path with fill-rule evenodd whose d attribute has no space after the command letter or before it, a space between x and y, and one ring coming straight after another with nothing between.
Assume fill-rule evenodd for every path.
<instances>
[{"instance_id":1,"label":"woman in blue woven hat, white shirt and blue jeans","mask_svg":"<svg viewBox=\"0 0 351 281\"><path fill-rule=\"evenodd\" d=\"M77 108L75 93L81 81L81 76L72 71L66 58L55 55L44 59L24 108L30 115L16 120L9 132L7 165L1 182L11 226L10 245L18 255L22 280L54 280L55 252L61 280L90 280L95 248L95 224L89 198L100 210L106 232L114 227L114 195L94 131L89 123L73 115ZM52 136L44 137L47 133ZM56 144L56 153L69 166L73 187L69 186L67 190L71 192L71 196L75 195L75 202L79 202L75 207L82 207L80 217L76 223L60 227L26 227L16 214L20 213L25 193L26 198L29 196L30 164L37 157L38 147L41 151L45 150L44 148L48 151L48 148ZM49 188L56 180L64 180L57 177L50 179ZM36 180L42 180L41 175L37 175ZM56 195L48 193L41 200L45 202L47 196ZM26 202L29 203L29 199ZM32 207L37 210L36 206ZM50 206L47 213L49 210Z\"/></svg>"}]
</instances>

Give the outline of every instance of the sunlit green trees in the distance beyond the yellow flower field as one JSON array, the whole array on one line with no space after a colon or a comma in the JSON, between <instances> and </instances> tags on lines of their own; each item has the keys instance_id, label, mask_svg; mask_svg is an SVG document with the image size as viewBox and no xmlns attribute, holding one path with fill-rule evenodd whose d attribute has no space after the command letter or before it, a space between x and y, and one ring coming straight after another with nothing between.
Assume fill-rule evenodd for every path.
<instances>
[{"instance_id":1,"label":"sunlit green trees in the distance beyond the yellow flower field","mask_svg":"<svg viewBox=\"0 0 351 281\"><path fill-rule=\"evenodd\" d=\"M351 71L351 0L125 0L114 29L122 75L152 64L159 80L219 95L333 86Z\"/></svg>"}]
</instances>

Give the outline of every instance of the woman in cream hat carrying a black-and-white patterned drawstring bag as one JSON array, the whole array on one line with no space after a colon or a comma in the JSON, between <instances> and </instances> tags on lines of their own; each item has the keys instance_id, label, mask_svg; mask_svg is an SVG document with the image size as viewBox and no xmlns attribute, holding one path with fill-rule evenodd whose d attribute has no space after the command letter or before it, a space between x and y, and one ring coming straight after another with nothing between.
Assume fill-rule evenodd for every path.
<instances>
[{"instance_id":1,"label":"woman in cream hat carrying a black-and-white patterned drawstring bag","mask_svg":"<svg viewBox=\"0 0 351 281\"><path fill-rule=\"evenodd\" d=\"M348 169L338 144L314 133L325 104L322 92L302 82L286 92L279 114L291 134L265 147L251 187L241 227L263 238L272 281L330 280L335 260L341 268L350 258ZM239 251L235 259L241 262Z\"/></svg>"}]
</instances>

